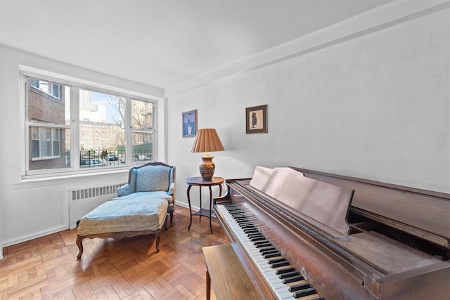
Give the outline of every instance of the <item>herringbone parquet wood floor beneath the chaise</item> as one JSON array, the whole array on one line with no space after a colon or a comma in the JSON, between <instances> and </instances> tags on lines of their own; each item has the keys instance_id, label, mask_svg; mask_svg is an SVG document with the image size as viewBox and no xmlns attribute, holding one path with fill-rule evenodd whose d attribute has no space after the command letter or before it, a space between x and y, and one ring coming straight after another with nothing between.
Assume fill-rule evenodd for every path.
<instances>
[{"instance_id":1,"label":"herringbone parquet wood floor beneath the chaise","mask_svg":"<svg viewBox=\"0 0 450 300\"><path fill-rule=\"evenodd\" d=\"M188 225L188 209L176 207L159 253L153 235L86 239L77 261L76 229L6 247L0 299L206 299L202 247L229 241L215 218L213 234L205 217Z\"/></svg>"}]
</instances>

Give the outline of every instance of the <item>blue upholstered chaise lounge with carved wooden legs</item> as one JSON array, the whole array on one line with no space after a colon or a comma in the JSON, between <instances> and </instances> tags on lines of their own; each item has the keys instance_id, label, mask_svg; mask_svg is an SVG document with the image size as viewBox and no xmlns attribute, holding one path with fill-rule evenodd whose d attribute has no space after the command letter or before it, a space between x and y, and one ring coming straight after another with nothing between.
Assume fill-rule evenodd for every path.
<instances>
[{"instance_id":1,"label":"blue upholstered chaise lounge with carved wooden legs","mask_svg":"<svg viewBox=\"0 0 450 300\"><path fill-rule=\"evenodd\" d=\"M161 228L170 214L172 226L175 195L175 167L150 162L129 171L128 183L117 189L117 196L83 216L77 222L80 259L85 238L117 238L155 234L160 251ZM167 226L165 226L167 229Z\"/></svg>"}]
</instances>

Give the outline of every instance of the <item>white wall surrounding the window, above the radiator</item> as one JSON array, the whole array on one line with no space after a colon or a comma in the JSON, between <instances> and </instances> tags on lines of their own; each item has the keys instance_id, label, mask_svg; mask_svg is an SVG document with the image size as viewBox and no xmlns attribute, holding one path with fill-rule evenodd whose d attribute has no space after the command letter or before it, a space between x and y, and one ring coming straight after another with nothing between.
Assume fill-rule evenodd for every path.
<instances>
[{"instance_id":1,"label":"white wall surrounding the window, above the radiator","mask_svg":"<svg viewBox=\"0 0 450 300\"><path fill-rule=\"evenodd\" d=\"M50 180L25 183L20 174L19 65L84 79L98 86L114 86L123 91L162 97L163 91L152 86L110 77L0 46L0 101L2 117L0 157L0 249L49 233L68 228L68 190L93 188L127 181L128 168L110 174L94 176L60 176ZM158 148L160 160L165 160L165 100L158 101L158 126L161 129ZM0 252L1 254L1 252Z\"/></svg>"}]
</instances>

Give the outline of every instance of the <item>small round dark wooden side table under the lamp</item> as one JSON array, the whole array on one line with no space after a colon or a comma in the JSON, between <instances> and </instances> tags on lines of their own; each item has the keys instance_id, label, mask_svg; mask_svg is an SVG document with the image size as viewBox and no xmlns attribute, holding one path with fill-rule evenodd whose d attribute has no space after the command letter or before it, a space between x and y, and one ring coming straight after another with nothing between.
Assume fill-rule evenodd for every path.
<instances>
[{"instance_id":1,"label":"small round dark wooden side table under the lamp","mask_svg":"<svg viewBox=\"0 0 450 300\"><path fill-rule=\"evenodd\" d=\"M212 233L212 226L211 226L211 214L212 214L212 190L211 187L214 185L219 185L219 197L222 195L222 183L224 183L225 179L221 177L212 177L210 181L204 181L201 177L191 177L186 179L186 183L188 183L188 203L189 203L189 214L191 214L191 221L189 222L188 230L191 228L192 224L192 216L200 216L200 219L202 216L206 216L210 218L210 230ZM192 213L191 210L191 194L189 193L191 191L191 188L193 186L198 186L200 189L200 210ZM207 186L210 189L210 209L203 209L202 208L202 187Z\"/></svg>"}]
</instances>

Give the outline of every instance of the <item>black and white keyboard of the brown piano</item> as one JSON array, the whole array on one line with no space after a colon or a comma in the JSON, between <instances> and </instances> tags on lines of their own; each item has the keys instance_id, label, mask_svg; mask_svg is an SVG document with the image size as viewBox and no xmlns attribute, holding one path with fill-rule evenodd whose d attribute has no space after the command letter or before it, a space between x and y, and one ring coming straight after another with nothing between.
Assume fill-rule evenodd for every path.
<instances>
[{"instance_id":1,"label":"black and white keyboard of the brown piano","mask_svg":"<svg viewBox=\"0 0 450 300\"><path fill-rule=\"evenodd\" d=\"M281 252L266 240L242 204L217 204L217 211L242 242L278 299L324 300L300 272L290 266Z\"/></svg>"}]
</instances>

